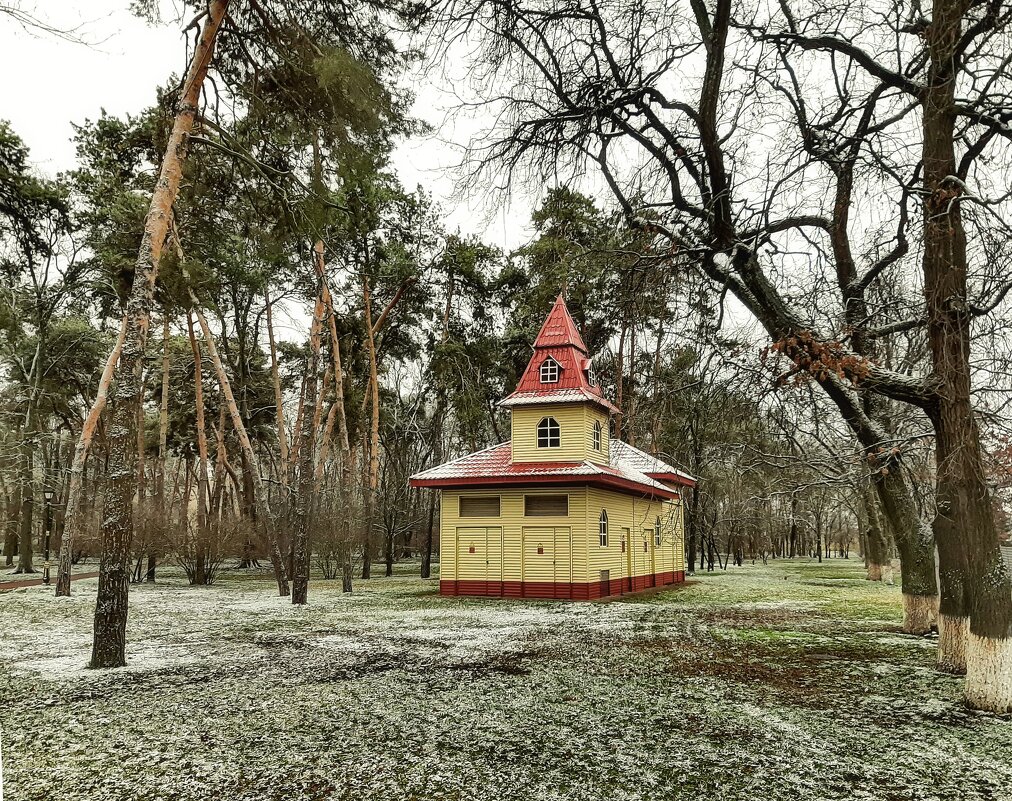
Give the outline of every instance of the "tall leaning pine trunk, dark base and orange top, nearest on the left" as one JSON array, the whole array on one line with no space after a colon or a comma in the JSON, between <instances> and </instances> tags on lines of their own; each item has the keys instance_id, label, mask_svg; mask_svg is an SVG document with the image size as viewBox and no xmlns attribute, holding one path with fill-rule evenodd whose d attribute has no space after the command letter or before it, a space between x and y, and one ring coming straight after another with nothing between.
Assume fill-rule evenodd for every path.
<instances>
[{"instance_id":1,"label":"tall leaning pine trunk, dark base and orange top, nearest on the left","mask_svg":"<svg viewBox=\"0 0 1012 801\"><path fill-rule=\"evenodd\" d=\"M134 495L137 488L137 407L141 403L141 368L147 347L151 304L162 246L169 231L172 205L179 192L187 140L196 117L200 89L207 75L219 26L228 0L212 0L203 29L193 50L186 81L176 108L162 168L144 224L144 236L126 300L123 339L115 402L109 425L109 481L102 521L102 559L95 604L92 668L126 663L126 606L130 593L131 540L134 535Z\"/></svg>"}]
</instances>

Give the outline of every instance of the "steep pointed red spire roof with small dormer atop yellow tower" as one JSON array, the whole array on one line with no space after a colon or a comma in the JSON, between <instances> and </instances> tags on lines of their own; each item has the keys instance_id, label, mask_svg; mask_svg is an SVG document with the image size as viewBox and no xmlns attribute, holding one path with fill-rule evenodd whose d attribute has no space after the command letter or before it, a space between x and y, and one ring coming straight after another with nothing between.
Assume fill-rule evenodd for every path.
<instances>
[{"instance_id":1,"label":"steep pointed red spire roof with small dormer atop yellow tower","mask_svg":"<svg viewBox=\"0 0 1012 801\"><path fill-rule=\"evenodd\" d=\"M542 382L541 365L550 358L559 364L559 380ZM559 295L534 340L534 353L520 382L501 406L589 401L610 412L617 412L611 402L601 394L601 387L596 382L590 382L587 346L566 306L566 298Z\"/></svg>"}]
</instances>

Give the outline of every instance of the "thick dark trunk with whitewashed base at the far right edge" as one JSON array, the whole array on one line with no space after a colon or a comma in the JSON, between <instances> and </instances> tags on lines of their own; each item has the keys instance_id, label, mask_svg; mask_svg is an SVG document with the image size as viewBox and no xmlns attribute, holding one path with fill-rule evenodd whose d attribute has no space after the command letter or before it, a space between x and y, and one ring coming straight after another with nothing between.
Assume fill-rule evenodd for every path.
<instances>
[{"instance_id":1,"label":"thick dark trunk with whitewashed base at the far right edge","mask_svg":"<svg viewBox=\"0 0 1012 801\"><path fill-rule=\"evenodd\" d=\"M972 404L966 235L955 177L956 75L968 0L936 0L924 37L929 56L923 93L924 294L936 402L929 410L937 455L939 554L961 552L965 594L943 598L943 628L963 625L969 603L966 703L1012 711L1012 585L1002 559ZM958 541L956 536L958 533ZM968 599L966 598L968 595Z\"/></svg>"}]
</instances>

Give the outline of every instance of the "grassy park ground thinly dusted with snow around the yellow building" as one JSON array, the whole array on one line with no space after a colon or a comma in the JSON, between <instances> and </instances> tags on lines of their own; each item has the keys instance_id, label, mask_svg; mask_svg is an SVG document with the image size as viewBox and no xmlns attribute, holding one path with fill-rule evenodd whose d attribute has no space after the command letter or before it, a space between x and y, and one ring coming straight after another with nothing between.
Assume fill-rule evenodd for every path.
<instances>
[{"instance_id":1,"label":"grassy park ground thinly dusted with snow around the yellow building","mask_svg":"<svg viewBox=\"0 0 1012 801\"><path fill-rule=\"evenodd\" d=\"M96 580L0 594L3 797L1012 798L1012 719L962 706L857 560L593 604L416 569L304 608L239 571L135 587L130 664L101 672Z\"/></svg>"}]
</instances>

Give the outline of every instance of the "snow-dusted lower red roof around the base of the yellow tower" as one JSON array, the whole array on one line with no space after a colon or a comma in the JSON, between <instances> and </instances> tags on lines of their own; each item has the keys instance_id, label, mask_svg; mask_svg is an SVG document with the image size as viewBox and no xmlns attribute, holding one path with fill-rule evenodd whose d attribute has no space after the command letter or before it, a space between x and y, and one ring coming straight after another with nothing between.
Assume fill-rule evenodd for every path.
<instances>
[{"instance_id":1,"label":"snow-dusted lower red roof around the base of the yellow tower","mask_svg":"<svg viewBox=\"0 0 1012 801\"><path fill-rule=\"evenodd\" d=\"M619 445L620 447L614 447ZM495 445L459 459L440 464L411 476L412 486L474 487L491 484L513 486L567 483L589 483L611 490L634 492L659 498L676 498L678 492L638 470L634 464L640 456L649 458L631 445L611 440L609 463L589 460L579 462L514 462L508 442ZM677 473L674 467L669 469ZM680 473L679 483L692 485L690 476Z\"/></svg>"}]
</instances>

